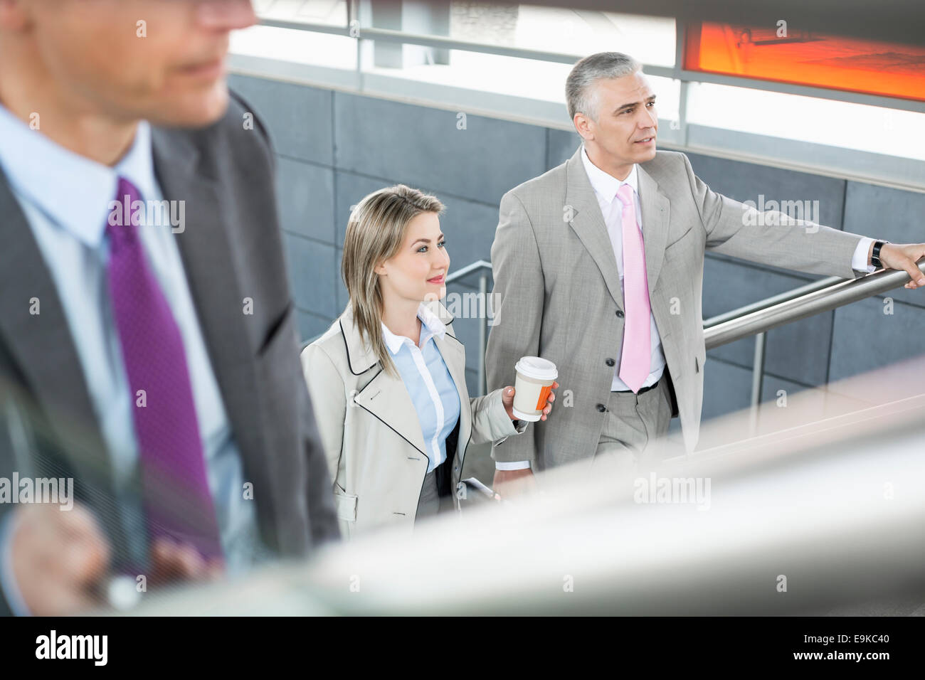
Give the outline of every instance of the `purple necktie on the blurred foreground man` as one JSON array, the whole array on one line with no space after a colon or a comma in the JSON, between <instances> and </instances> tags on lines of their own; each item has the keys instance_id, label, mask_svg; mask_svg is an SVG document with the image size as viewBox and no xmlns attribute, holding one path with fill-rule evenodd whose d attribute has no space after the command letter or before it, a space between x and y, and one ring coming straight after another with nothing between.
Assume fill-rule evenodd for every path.
<instances>
[{"instance_id":1,"label":"purple necktie on the blurred foreground man","mask_svg":"<svg viewBox=\"0 0 925 680\"><path fill-rule=\"evenodd\" d=\"M132 225L129 207L141 194L119 178L116 200L125 210L122 219L107 221L106 274L131 390L149 538L172 538L206 559L221 557L182 336L145 257L138 224Z\"/></svg>"}]
</instances>

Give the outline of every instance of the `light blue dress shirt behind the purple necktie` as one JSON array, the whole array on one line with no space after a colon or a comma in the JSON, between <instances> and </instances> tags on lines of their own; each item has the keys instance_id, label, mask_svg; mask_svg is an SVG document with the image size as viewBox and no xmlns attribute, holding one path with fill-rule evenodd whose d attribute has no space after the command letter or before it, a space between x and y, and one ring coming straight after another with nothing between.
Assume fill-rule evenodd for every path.
<instances>
[{"instance_id":1,"label":"light blue dress shirt behind the purple necktie","mask_svg":"<svg viewBox=\"0 0 925 680\"><path fill-rule=\"evenodd\" d=\"M64 307L71 338L90 392L113 469L130 558L143 558L147 539L141 500L123 489L138 475L138 441L131 409L133 397L122 362L118 332L106 288L109 204L116 200L119 177L129 179L143 201L160 201L154 176L151 129L138 126L135 140L116 167L106 167L52 142L0 105L0 167L38 242ZM256 508L243 494L243 465L228 414L209 362L199 320L170 224L139 227L142 244L183 338L193 401L203 439L209 488L228 574L262 561ZM179 231L179 228L178 228ZM41 303L41 301L40 301ZM9 519L0 526L3 552L0 584L14 612L22 611L9 573Z\"/></svg>"}]
</instances>

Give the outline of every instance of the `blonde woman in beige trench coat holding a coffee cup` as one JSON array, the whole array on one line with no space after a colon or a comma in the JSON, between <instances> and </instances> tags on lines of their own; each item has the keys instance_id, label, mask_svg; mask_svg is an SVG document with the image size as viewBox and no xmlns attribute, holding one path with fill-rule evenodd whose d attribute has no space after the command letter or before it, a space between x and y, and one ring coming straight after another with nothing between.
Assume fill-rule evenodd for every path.
<instances>
[{"instance_id":1,"label":"blonde woman in beige trench coat holding a coffee cup","mask_svg":"<svg viewBox=\"0 0 925 680\"><path fill-rule=\"evenodd\" d=\"M469 444L500 443L527 425L512 414L511 386L469 398L465 350L439 303L450 267L442 212L437 198L402 184L366 196L344 238L350 303L302 351L344 537L410 530L458 507Z\"/></svg>"}]
</instances>

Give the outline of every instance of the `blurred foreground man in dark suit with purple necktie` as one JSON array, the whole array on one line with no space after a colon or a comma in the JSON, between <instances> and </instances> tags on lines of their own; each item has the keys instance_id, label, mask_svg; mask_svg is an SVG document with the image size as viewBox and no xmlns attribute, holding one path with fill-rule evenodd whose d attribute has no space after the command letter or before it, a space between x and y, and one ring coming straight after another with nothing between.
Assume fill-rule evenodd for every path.
<instances>
[{"instance_id":1,"label":"blurred foreground man in dark suit with purple necktie","mask_svg":"<svg viewBox=\"0 0 925 680\"><path fill-rule=\"evenodd\" d=\"M0 612L339 536L274 156L225 82L254 21L249 0L0 0ZM42 480L73 508L12 504Z\"/></svg>"}]
</instances>

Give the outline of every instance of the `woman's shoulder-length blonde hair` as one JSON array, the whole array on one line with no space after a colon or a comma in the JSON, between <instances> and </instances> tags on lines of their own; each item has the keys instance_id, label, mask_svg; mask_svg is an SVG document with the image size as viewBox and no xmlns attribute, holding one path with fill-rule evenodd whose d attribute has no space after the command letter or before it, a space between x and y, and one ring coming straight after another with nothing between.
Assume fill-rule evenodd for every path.
<instances>
[{"instance_id":1,"label":"woman's shoulder-length blonde hair","mask_svg":"<svg viewBox=\"0 0 925 680\"><path fill-rule=\"evenodd\" d=\"M408 223L422 213L441 214L444 205L404 184L366 196L351 212L340 273L350 295L353 323L389 375L399 377L382 337L384 303L376 266L401 250Z\"/></svg>"}]
</instances>

